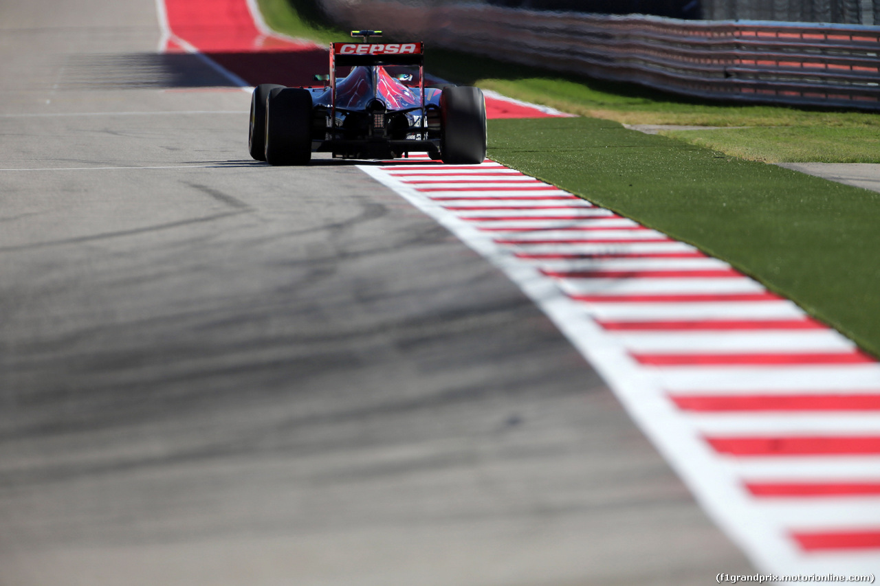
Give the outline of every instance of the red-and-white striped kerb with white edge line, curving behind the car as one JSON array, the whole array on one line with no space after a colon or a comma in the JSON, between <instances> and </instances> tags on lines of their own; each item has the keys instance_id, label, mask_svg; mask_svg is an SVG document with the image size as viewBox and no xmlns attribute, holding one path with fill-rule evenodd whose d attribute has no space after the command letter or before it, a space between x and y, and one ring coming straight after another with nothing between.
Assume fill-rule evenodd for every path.
<instances>
[{"instance_id":1,"label":"red-and-white striped kerb with white edge line, curving behind the car","mask_svg":"<svg viewBox=\"0 0 880 586\"><path fill-rule=\"evenodd\" d=\"M363 166L500 267L778 575L880 568L880 364L722 260L482 165Z\"/></svg>"}]
</instances>

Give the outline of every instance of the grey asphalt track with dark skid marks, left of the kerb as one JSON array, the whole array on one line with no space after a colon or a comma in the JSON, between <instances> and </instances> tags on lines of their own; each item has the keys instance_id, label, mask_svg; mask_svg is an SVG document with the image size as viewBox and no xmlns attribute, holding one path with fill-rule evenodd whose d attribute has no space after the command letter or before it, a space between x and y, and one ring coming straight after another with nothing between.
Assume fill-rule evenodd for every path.
<instances>
[{"instance_id":1,"label":"grey asphalt track with dark skid marks, left of the kerb","mask_svg":"<svg viewBox=\"0 0 880 586\"><path fill-rule=\"evenodd\" d=\"M0 584L752 571L495 268L246 155L149 1L0 5Z\"/></svg>"}]
</instances>

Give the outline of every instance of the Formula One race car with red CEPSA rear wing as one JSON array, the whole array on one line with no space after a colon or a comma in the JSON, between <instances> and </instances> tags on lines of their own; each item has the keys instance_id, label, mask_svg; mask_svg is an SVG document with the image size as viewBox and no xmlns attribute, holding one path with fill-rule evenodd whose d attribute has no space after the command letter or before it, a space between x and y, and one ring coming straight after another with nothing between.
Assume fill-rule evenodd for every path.
<instances>
[{"instance_id":1,"label":"Formula One race car with red CEPSA rear wing","mask_svg":"<svg viewBox=\"0 0 880 586\"><path fill-rule=\"evenodd\" d=\"M324 87L260 84L251 97L251 156L270 165L308 165L312 152L340 158L427 152L444 163L486 157L486 102L475 87L426 86L422 43L331 43ZM337 79L337 68L350 67ZM415 84L414 74L418 76Z\"/></svg>"}]
</instances>

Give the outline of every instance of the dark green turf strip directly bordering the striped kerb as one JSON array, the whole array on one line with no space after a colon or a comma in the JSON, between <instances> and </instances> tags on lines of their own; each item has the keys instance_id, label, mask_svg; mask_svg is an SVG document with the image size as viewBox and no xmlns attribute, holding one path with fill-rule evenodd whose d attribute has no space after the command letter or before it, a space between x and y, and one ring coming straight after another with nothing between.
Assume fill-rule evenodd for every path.
<instances>
[{"instance_id":1,"label":"dark green turf strip directly bordering the striped kerb","mask_svg":"<svg viewBox=\"0 0 880 586\"><path fill-rule=\"evenodd\" d=\"M880 355L880 194L589 118L490 121L489 156L727 260Z\"/></svg>"}]
</instances>

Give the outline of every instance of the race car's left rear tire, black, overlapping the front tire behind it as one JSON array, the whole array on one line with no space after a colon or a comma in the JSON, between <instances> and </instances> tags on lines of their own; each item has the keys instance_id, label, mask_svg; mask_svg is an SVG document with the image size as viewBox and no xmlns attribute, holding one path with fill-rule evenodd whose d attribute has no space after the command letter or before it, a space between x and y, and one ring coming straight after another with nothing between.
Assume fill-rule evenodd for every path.
<instances>
[{"instance_id":1,"label":"race car's left rear tire, black, overlapping the front tire behind it","mask_svg":"<svg viewBox=\"0 0 880 586\"><path fill-rule=\"evenodd\" d=\"M266 100L266 161L308 165L312 158L312 93L275 88Z\"/></svg>"}]
</instances>

